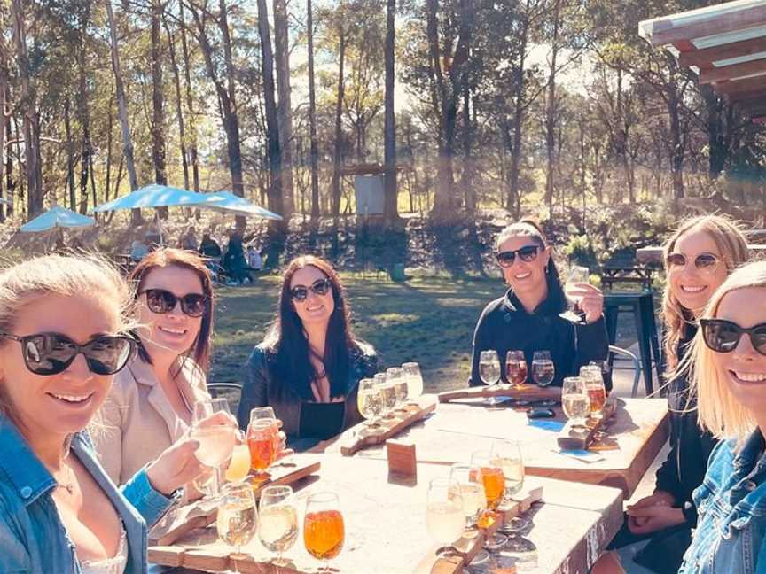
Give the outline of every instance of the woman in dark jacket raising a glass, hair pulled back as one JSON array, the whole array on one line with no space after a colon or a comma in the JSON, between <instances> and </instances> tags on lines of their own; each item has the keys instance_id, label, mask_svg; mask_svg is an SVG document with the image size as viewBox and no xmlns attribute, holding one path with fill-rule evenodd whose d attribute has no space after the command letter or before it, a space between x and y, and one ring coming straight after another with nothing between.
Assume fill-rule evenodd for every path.
<instances>
[{"instance_id":1,"label":"woman in dark jacket raising a glass, hair pulled back","mask_svg":"<svg viewBox=\"0 0 766 574\"><path fill-rule=\"evenodd\" d=\"M481 351L494 349L500 361L508 351L523 351L531 365L535 351L550 351L556 374L552 384L576 375L589 361L603 361L609 351L604 322L604 297L588 283L577 283L572 294L580 299L584 324L559 317L567 299L543 230L522 220L500 232L496 259L510 289L484 308L473 333L473 368L470 384L483 384L479 376ZM501 369L504 382L504 369ZM608 382L607 382L608 388Z\"/></svg>"}]
</instances>

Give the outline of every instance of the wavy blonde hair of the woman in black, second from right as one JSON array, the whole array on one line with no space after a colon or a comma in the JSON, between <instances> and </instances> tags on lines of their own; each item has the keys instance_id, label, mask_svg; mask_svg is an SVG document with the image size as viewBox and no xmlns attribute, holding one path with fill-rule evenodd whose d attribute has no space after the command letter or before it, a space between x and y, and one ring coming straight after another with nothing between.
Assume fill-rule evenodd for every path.
<instances>
[{"instance_id":1,"label":"wavy blonde hair of the woman in black, second from right","mask_svg":"<svg viewBox=\"0 0 766 574\"><path fill-rule=\"evenodd\" d=\"M662 249L662 259L665 271L668 271L668 255L676 249L678 239L686 233L702 231L713 240L721 252L723 262L728 271L737 268L747 260L747 242L736 223L723 215L700 215L682 221L675 233L668 239ZM692 314L678 302L670 283L666 283L662 294L662 319L665 323L665 356L668 362L668 372L673 373L678 365L678 341L684 336L686 323L692 320ZM673 375L670 375L672 378Z\"/></svg>"}]
</instances>

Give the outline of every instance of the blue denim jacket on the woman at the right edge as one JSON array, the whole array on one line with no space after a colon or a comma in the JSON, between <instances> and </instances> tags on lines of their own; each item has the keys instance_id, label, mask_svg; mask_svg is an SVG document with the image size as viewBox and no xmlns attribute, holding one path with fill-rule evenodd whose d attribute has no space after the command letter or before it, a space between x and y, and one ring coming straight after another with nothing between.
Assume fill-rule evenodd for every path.
<instances>
[{"instance_id":1,"label":"blue denim jacket on the woman at the right edge","mask_svg":"<svg viewBox=\"0 0 766 574\"><path fill-rule=\"evenodd\" d=\"M699 515L679 574L766 574L766 454L755 430L738 451L722 441L694 491Z\"/></svg>"}]
</instances>

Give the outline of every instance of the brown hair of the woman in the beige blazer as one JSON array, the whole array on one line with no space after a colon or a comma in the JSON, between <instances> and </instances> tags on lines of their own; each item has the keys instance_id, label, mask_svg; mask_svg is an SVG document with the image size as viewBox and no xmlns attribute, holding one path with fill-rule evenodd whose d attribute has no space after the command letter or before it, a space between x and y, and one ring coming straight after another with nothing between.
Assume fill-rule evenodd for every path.
<instances>
[{"instance_id":1,"label":"brown hair of the woman in the beige blazer","mask_svg":"<svg viewBox=\"0 0 766 574\"><path fill-rule=\"evenodd\" d=\"M152 272L152 269L168 267L179 267L192 271L199 277L199 281L202 283L202 293L207 296L207 306L205 313L202 315L202 324L199 326L197 340L184 353L184 358L191 356L194 362L199 365L199 368L202 368L202 371L207 373L207 368L210 367L210 339L213 332L213 280L209 269L205 265L205 260L196 253L184 251L183 249L169 247L158 249L149 253L138 263L136 268L130 272L128 280L135 287L136 298L138 298L138 293L141 292L146 276ZM143 361L150 365L152 364L152 358L146 352L140 339L138 355Z\"/></svg>"}]
</instances>

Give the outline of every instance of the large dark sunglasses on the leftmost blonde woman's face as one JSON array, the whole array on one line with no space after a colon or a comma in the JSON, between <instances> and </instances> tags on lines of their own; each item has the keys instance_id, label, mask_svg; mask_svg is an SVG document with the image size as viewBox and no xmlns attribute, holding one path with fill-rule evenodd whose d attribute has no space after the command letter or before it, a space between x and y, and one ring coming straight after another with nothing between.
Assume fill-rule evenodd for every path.
<instances>
[{"instance_id":1,"label":"large dark sunglasses on the leftmost blonde woman's face","mask_svg":"<svg viewBox=\"0 0 766 574\"><path fill-rule=\"evenodd\" d=\"M130 337L102 335L90 339L85 345L78 345L66 335L59 333L37 333L17 337L0 333L0 337L19 341L21 354L27 368L35 375L58 375L82 353L90 372L96 375L113 375L128 364L136 348L136 341Z\"/></svg>"}]
</instances>

